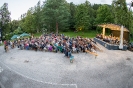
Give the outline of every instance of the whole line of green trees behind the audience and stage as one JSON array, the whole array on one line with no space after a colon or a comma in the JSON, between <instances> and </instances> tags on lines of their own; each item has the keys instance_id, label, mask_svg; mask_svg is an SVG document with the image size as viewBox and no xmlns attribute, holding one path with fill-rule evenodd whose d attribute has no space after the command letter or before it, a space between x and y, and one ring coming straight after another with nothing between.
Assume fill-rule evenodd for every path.
<instances>
[{"instance_id":1,"label":"whole line of green trees behind the audience and stage","mask_svg":"<svg viewBox=\"0 0 133 88\"><path fill-rule=\"evenodd\" d=\"M123 25L133 34L133 13L126 0L113 0L111 5L91 4L88 0L78 5L66 0L38 1L19 20L10 22L6 27L8 32L20 27L21 31L29 33L45 29L58 33L96 30L97 25L103 23Z\"/></svg>"}]
</instances>

